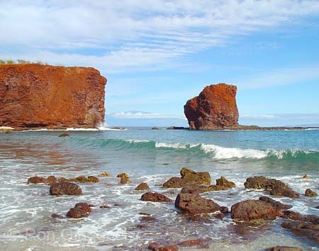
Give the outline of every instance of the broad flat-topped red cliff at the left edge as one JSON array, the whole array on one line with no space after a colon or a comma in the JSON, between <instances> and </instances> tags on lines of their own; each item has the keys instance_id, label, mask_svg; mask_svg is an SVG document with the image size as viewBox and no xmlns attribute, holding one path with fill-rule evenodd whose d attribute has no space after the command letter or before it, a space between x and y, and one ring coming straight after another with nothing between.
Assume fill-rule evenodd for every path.
<instances>
[{"instance_id":1,"label":"broad flat-topped red cliff at the left edge","mask_svg":"<svg viewBox=\"0 0 319 251\"><path fill-rule=\"evenodd\" d=\"M0 65L0 126L94 128L104 121L105 85L89 67Z\"/></svg>"}]
</instances>

